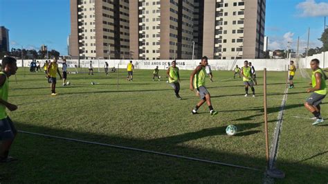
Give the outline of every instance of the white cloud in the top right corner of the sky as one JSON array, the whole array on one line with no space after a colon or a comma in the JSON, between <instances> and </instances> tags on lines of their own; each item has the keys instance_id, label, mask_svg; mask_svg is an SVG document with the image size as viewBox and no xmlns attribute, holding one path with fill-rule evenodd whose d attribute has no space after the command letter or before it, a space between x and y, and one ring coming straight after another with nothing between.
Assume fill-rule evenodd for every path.
<instances>
[{"instance_id":1,"label":"white cloud in the top right corner of the sky","mask_svg":"<svg viewBox=\"0 0 328 184\"><path fill-rule=\"evenodd\" d=\"M300 10L301 17L328 16L328 3L316 3L316 0L306 0L296 6Z\"/></svg>"}]
</instances>

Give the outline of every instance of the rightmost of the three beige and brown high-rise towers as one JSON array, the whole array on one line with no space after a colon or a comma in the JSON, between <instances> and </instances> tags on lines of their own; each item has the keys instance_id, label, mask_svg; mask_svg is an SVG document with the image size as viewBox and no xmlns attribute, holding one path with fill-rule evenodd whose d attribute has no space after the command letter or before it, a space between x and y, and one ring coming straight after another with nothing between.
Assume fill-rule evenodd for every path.
<instances>
[{"instance_id":1,"label":"rightmost of the three beige and brown high-rise towers","mask_svg":"<svg viewBox=\"0 0 328 184\"><path fill-rule=\"evenodd\" d=\"M210 59L262 58L265 0L206 0L203 55Z\"/></svg>"}]
</instances>

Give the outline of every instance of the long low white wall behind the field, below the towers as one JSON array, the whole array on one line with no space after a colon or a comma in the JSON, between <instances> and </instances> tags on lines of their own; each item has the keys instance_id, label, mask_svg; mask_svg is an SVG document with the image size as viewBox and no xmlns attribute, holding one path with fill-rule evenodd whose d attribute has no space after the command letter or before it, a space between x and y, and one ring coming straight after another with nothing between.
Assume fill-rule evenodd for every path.
<instances>
[{"instance_id":1,"label":"long low white wall behind the field, below the towers","mask_svg":"<svg viewBox=\"0 0 328 184\"><path fill-rule=\"evenodd\" d=\"M328 52L325 53L325 67L327 67ZM297 66L302 68L310 68L309 62L311 59L317 58L320 62L320 67L324 66L323 53L318 55L313 55L307 58L300 58L299 61L295 58L292 60L296 61ZM266 68L268 71L286 71L286 66L289 64L289 59L210 59L208 63L210 64L213 71L230 71L235 68L237 64L239 67L244 66L244 61L252 62L253 66L257 71L262 71ZM44 65L46 59L37 59L41 66ZM92 61L93 68L104 68L104 62L108 62L109 68L115 66L116 68L127 68L129 59L80 59L80 67L88 68L90 61ZM160 69L166 69L172 60L131 60L136 69L154 69L156 66ZM32 60L24 60L22 64L21 60L17 60L17 66L30 66ZM189 59L189 60L176 60L176 66L181 70L193 70L201 62L200 59ZM62 61L58 61L60 67L62 67ZM67 64L69 67L78 66L77 59L68 59Z\"/></svg>"}]
</instances>

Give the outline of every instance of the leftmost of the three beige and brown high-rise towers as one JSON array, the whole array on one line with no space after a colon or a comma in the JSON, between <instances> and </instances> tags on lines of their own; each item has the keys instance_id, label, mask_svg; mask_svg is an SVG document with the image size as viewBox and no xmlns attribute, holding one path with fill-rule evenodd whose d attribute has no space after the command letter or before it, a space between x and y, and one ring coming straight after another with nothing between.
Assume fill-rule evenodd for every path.
<instances>
[{"instance_id":1,"label":"leftmost of the three beige and brown high-rise towers","mask_svg":"<svg viewBox=\"0 0 328 184\"><path fill-rule=\"evenodd\" d=\"M129 58L129 0L71 0L74 58Z\"/></svg>"}]
</instances>

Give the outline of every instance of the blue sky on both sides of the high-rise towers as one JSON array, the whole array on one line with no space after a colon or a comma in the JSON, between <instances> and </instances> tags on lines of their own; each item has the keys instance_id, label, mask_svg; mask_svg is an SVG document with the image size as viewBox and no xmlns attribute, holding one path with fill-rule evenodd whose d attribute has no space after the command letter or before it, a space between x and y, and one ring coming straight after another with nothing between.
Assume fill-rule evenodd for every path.
<instances>
[{"instance_id":1,"label":"blue sky on both sides of the high-rise towers","mask_svg":"<svg viewBox=\"0 0 328 184\"><path fill-rule=\"evenodd\" d=\"M10 30L10 47L39 50L45 44L66 55L69 11L69 0L0 0L0 25ZM309 27L310 47L322 46L325 16L328 24L328 0L266 0L268 47L284 49L291 42L296 48L299 36L304 51Z\"/></svg>"}]
</instances>

